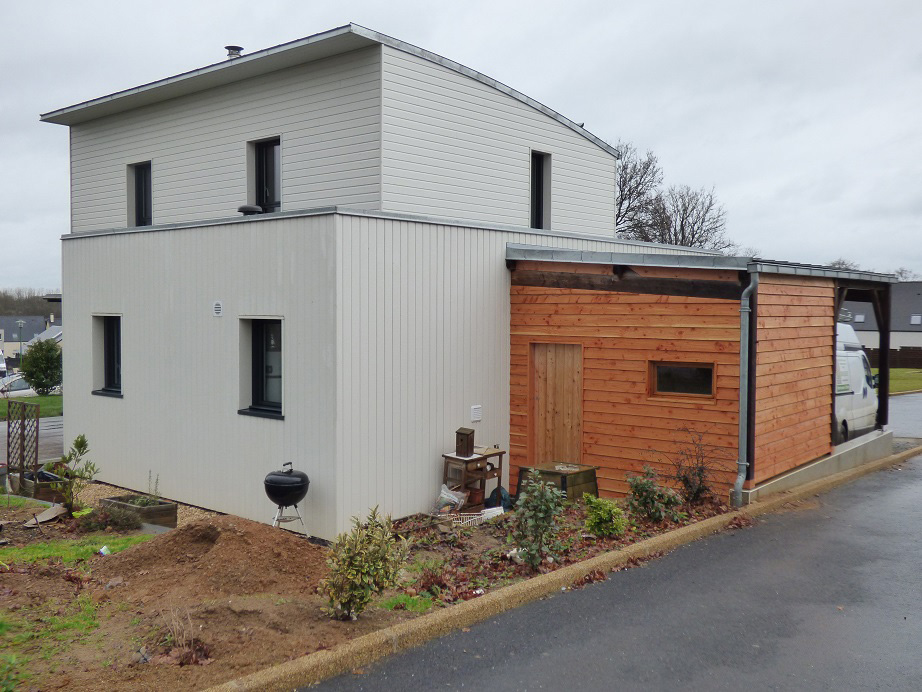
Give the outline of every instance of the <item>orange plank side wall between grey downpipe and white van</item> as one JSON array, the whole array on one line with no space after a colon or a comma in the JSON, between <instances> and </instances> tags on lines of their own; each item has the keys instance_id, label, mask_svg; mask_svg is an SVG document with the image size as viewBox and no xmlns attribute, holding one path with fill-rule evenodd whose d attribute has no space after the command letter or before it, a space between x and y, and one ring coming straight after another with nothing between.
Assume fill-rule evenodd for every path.
<instances>
[{"instance_id":1,"label":"orange plank side wall between grey downpipe and white van","mask_svg":"<svg viewBox=\"0 0 922 692\"><path fill-rule=\"evenodd\" d=\"M759 277L756 483L832 448L834 299L831 279Z\"/></svg>"}]
</instances>

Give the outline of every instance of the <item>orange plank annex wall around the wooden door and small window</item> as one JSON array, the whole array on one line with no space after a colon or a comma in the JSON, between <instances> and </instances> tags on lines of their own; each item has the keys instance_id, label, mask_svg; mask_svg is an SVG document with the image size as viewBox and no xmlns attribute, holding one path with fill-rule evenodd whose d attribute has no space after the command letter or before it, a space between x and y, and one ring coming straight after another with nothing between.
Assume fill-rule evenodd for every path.
<instances>
[{"instance_id":1,"label":"orange plank annex wall around the wooden door and small window","mask_svg":"<svg viewBox=\"0 0 922 692\"><path fill-rule=\"evenodd\" d=\"M687 444L688 428L718 448L736 475L739 418L739 302L535 286L511 287L510 487L535 458L532 344L582 347L581 458L600 467L603 496L627 492L626 477ZM650 396L650 361L713 363L714 397Z\"/></svg>"}]
</instances>

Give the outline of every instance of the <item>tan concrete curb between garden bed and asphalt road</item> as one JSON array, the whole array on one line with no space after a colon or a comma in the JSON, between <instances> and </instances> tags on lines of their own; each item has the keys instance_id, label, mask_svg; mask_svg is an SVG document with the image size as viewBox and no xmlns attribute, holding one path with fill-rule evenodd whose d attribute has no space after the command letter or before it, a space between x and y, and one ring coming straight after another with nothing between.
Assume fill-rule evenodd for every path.
<instances>
[{"instance_id":1,"label":"tan concrete curb between garden bed and asphalt road","mask_svg":"<svg viewBox=\"0 0 922 692\"><path fill-rule=\"evenodd\" d=\"M745 508L683 526L661 536L597 555L562 567L559 570L506 586L480 598L464 601L419 618L372 632L346 642L334 649L317 651L286 663L230 680L211 688L211 692L238 690L291 690L313 685L354 668L368 665L392 653L424 644L454 630L467 627L507 610L560 592L578 579L600 570L611 572L624 564L669 552L699 538L726 528L738 517L755 517L775 511L790 502L803 500L832 490L849 481L881 469L895 466L910 457L922 454L922 446L872 461L854 469L822 478L799 488L779 493Z\"/></svg>"}]
</instances>

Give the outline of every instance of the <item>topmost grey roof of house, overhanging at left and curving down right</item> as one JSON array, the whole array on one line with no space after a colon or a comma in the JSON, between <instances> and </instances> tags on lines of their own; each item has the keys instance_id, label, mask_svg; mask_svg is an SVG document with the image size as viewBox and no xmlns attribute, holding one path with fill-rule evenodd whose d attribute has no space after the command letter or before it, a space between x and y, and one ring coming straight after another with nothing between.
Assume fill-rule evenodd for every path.
<instances>
[{"instance_id":1,"label":"topmost grey roof of house, overhanging at left and curving down right","mask_svg":"<svg viewBox=\"0 0 922 692\"><path fill-rule=\"evenodd\" d=\"M172 77L159 79L155 82L142 84L131 89L124 89L107 96L101 96L89 101L59 108L48 113L43 113L40 119L43 122L57 125L76 125L88 120L95 120L107 115L122 113L134 108L141 108L153 103L168 99L186 96L206 89L212 89L224 84L232 84L251 77L283 70L288 67L322 60L332 55L348 53L368 46L384 45L396 50L415 55L424 60L434 62L449 70L453 70L466 77L470 77L482 84L511 96L525 103L544 115L570 128L577 134L585 137L593 144L618 158L615 149L607 142L599 139L584 127L577 125L569 118L557 111L548 108L533 98L516 91L510 86L499 82L492 77L472 70L461 63L449 60L441 55L424 50L387 34L368 29L359 24L346 24L329 31L313 34L305 38L282 43L271 48L254 51L241 55L239 58L229 58L218 63L206 65L195 70L183 72Z\"/></svg>"}]
</instances>

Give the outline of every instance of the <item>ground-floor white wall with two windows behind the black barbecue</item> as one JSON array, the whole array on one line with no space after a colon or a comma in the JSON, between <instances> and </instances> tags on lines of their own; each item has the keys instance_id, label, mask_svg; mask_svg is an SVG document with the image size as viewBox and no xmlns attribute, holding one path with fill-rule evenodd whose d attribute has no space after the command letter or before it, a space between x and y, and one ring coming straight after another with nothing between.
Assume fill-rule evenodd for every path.
<instances>
[{"instance_id":1,"label":"ground-floor white wall with two windows behind the black barbecue","mask_svg":"<svg viewBox=\"0 0 922 692\"><path fill-rule=\"evenodd\" d=\"M150 471L165 497L260 521L263 478L292 461L307 531L334 534L335 258L331 216L65 241L65 439L86 434L100 480L144 491ZM122 316L122 399L90 394L93 313ZM283 421L237 413L241 315L284 320Z\"/></svg>"}]
</instances>

